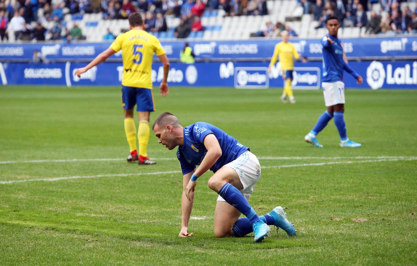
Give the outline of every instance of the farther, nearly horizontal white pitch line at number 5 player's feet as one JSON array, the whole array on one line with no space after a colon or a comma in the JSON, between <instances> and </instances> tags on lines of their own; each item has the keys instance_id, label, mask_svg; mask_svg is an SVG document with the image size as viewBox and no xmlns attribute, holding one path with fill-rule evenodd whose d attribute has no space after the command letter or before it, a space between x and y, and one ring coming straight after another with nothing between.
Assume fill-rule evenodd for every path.
<instances>
[{"instance_id":1,"label":"farther, nearly horizontal white pitch line at number 5 player's feet","mask_svg":"<svg viewBox=\"0 0 417 266\"><path fill-rule=\"evenodd\" d=\"M357 156L357 157L258 157L259 160L340 160L340 159L405 159L408 156ZM151 158L153 160L177 160L177 158ZM102 158L102 159L63 159L63 160L25 160L25 161L0 161L0 164L12 163L71 163L71 162L106 162L106 161L124 161L122 158Z\"/></svg>"}]
</instances>

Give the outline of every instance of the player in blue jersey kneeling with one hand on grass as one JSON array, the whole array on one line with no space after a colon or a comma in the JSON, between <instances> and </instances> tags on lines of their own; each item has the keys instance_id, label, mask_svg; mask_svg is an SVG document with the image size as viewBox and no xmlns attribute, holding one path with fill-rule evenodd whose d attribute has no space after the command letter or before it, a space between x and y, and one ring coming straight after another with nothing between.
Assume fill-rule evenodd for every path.
<instances>
[{"instance_id":1,"label":"player in blue jersey kneeling with one hand on grass","mask_svg":"<svg viewBox=\"0 0 417 266\"><path fill-rule=\"evenodd\" d=\"M208 170L214 172L208 180L208 187L219 194L214 211L216 237L239 237L254 232L254 241L260 242L271 231L268 225L275 225L288 235L296 236L294 225L288 222L282 207L258 216L249 204L249 196L261 177L261 166L248 147L209 123L197 122L183 128L178 118L168 112L156 118L152 130L158 143L168 150L178 146L177 158L183 173L181 231L178 236L193 236L188 232L188 222L194 188L197 178ZM247 218L239 219L241 214Z\"/></svg>"}]
</instances>

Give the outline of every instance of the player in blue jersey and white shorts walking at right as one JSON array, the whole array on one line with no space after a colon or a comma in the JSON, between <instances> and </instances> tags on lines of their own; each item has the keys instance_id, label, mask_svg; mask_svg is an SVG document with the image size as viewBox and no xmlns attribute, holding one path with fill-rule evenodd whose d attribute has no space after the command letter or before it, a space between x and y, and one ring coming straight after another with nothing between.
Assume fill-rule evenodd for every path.
<instances>
[{"instance_id":1,"label":"player in blue jersey and white shorts walking at right","mask_svg":"<svg viewBox=\"0 0 417 266\"><path fill-rule=\"evenodd\" d=\"M322 131L327 123L334 118L334 124L340 135L341 147L360 147L360 143L355 143L347 138L346 124L344 122L344 83L343 70L355 77L357 84L362 83L362 77L354 71L343 59L342 42L337 38L337 31L340 24L336 16L329 16L326 19L326 28L329 34L322 38L323 47L323 79L322 88L324 103L327 111L322 113L316 126L304 137L304 140L313 144L314 147L323 147L317 140L317 134Z\"/></svg>"}]
</instances>

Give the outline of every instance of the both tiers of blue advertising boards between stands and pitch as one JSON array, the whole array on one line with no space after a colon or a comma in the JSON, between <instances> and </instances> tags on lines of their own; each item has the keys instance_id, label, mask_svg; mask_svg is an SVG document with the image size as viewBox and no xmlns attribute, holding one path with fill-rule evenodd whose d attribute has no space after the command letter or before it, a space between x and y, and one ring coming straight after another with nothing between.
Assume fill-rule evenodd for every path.
<instances>
[{"instance_id":1,"label":"both tiers of blue advertising boards between stands and pitch","mask_svg":"<svg viewBox=\"0 0 417 266\"><path fill-rule=\"evenodd\" d=\"M279 63L270 74L266 72L274 45L279 41L189 42L197 61L200 60L193 65L177 62L184 42L163 42L161 44L171 60L168 83L171 86L282 87ZM304 64L296 62L294 89L319 89L322 74L320 40L293 39L291 42L302 56L312 60ZM346 73L347 87L417 89L417 37L343 39L343 42L347 57L364 60L349 62L363 77L364 83L357 85ZM74 76L77 68L85 66L110 44L0 44L2 84L119 85L123 74L121 52L90 69L81 78ZM35 49L51 63L30 63ZM162 76L161 64L155 62L152 70L155 86L158 86Z\"/></svg>"}]
</instances>

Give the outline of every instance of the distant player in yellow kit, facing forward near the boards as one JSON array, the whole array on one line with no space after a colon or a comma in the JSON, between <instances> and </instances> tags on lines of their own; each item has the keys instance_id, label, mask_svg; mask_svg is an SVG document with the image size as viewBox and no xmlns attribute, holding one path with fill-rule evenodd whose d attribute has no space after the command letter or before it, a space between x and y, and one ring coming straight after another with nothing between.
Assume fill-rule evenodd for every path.
<instances>
[{"instance_id":1,"label":"distant player in yellow kit, facing forward near the boards","mask_svg":"<svg viewBox=\"0 0 417 266\"><path fill-rule=\"evenodd\" d=\"M272 55L271 63L269 63L268 67L268 73L271 72L272 66L274 66L279 57L282 78L285 80L281 101L286 103L286 96L288 95L290 103L295 103L294 94L291 89L291 81L293 80L292 71L294 70L294 58L299 59L301 54L297 53L294 44L288 41L288 32L286 30L281 32L281 37L282 42L275 45L274 55Z\"/></svg>"}]
</instances>

